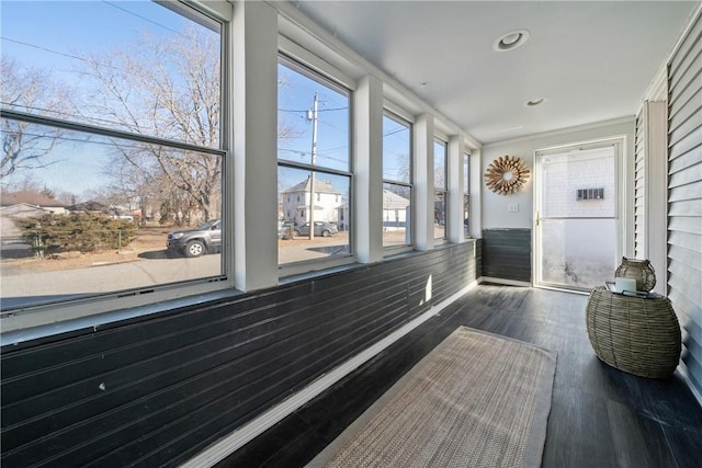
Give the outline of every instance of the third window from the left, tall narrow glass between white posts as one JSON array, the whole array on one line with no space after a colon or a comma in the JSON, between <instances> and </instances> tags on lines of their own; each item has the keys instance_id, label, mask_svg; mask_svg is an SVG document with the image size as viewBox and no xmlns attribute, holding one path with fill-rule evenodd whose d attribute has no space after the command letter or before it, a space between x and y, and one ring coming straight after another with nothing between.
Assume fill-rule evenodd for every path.
<instances>
[{"instance_id":1,"label":"third window from the left, tall narrow glass between white posts","mask_svg":"<svg viewBox=\"0 0 702 468\"><path fill-rule=\"evenodd\" d=\"M409 123L383 116L383 247L411 246L412 184Z\"/></svg>"}]
</instances>

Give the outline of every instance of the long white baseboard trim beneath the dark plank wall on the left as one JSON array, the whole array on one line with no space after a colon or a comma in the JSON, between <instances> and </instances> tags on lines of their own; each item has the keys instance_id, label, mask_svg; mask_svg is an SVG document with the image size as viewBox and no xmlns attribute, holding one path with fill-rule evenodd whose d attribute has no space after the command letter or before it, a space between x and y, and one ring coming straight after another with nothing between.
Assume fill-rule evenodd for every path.
<instances>
[{"instance_id":1,"label":"long white baseboard trim beneath the dark plank wall on the left","mask_svg":"<svg viewBox=\"0 0 702 468\"><path fill-rule=\"evenodd\" d=\"M241 448L247 443L251 442L257 436L261 435L263 432L282 421L284 418L292 414L295 410L301 408L303 404L313 400L315 397L320 395L327 388L335 385L337 381L341 380L347 375L351 374L358 367L360 367L366 361L373 358L375 355L381 353L383 350L405 336L407 333L438 315L441 310L446 308L449 305L457 300L461 296L466 294L468 290L473 289L478 285L478 282L472 282L467 286L463 287L457 293L453 294L448 299L434 305L419 316L412 321L408 322L400 329L390 333L380 342L375 343L371 347L362 351L356 354L354 357L350 358L346 363L336 367L327 374L324 374L318 379L314 380L307 387L303 388L298 392L292 395L283 402L278 406L271 408L270 410L263 412L261 415L256 418L254 420L248 422L241 427L235 430L231 434L226 437L219 440L214 445L211 445L204 452L196 455L194 458L185 461L182 467L186 468L202 468L202 467L212 467L215 464L222 461L229 455L234 454L236 450Z\"/></svg>"}]
</instances>

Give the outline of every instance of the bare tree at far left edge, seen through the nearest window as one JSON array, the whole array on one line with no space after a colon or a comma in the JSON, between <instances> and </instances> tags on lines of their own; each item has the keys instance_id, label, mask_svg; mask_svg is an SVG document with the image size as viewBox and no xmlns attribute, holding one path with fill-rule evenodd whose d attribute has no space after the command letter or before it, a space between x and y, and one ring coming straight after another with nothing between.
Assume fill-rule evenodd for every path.
<instances>
[{"instance_id":1,"label":"bare tree at far left edge, seen through the nearest window","mask_svg":"<svg viewBox=\"0 0 702 468\"><path fill-rule=\"evenodd\" d=\"M3 56L0 67L2 107L30 114L60 115L67 101L63 85L38 69L24 68ZM2 161L0 179L21 169L44 168L64 130L11 118L2 118Z\"/></svg>"}]
</instances>

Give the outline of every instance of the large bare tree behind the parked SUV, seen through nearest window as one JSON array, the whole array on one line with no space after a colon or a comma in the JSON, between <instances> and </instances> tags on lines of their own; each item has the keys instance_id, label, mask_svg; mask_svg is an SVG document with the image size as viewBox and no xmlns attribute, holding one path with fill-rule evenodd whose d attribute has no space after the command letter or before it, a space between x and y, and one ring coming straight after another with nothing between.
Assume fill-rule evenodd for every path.
<instances>
[{"instance_id":1,"label":"large bare tree behind the parked SUV, seen through nearest window","mask_svg":"<svg viewBox=\"0 0 702 468\"><path fill-rule=\"evenodd\" d=\"M82 73L95 83L80 107L89 122L202 147L219 146L217 35L194 27L170 39L144 35L138 44L90 56ZM219 216L219 205L214 203L222 190L219 156L114 142L113 169L117 170L113 174L123 189L161 196L176 189L205 219Z\"/></svg>"}]
</instances>

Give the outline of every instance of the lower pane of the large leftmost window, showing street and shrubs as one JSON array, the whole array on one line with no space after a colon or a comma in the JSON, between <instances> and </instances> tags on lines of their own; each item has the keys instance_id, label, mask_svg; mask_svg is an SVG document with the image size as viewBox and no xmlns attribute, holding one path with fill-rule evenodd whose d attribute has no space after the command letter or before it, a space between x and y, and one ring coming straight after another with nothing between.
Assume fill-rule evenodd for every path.
<instances>
[{"instance_id":1,"label":"lower pane of the large leftmost window, showing street and shrubs","mask_svg":"<svg viewBox=\"0 0 702 468\"><path fill-rule=\"evenodd\" d=\"M42 155L41 167L3 178L3 309L224 273L220 225L172 239L219 219L220 152L9 118L1 125L4 141L26 141Z\"/></svg>"}]
</instances>

